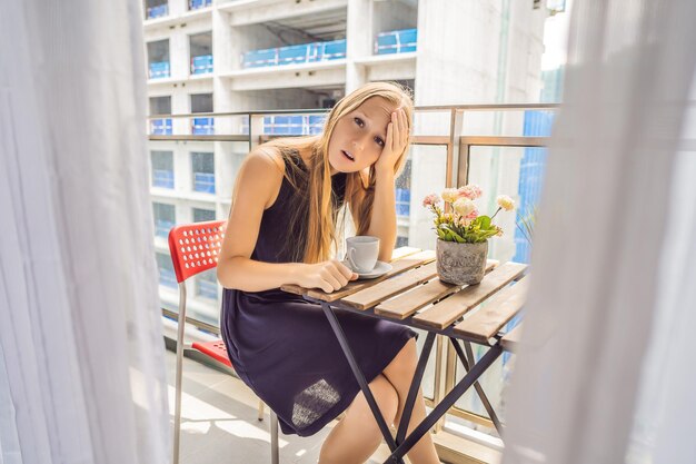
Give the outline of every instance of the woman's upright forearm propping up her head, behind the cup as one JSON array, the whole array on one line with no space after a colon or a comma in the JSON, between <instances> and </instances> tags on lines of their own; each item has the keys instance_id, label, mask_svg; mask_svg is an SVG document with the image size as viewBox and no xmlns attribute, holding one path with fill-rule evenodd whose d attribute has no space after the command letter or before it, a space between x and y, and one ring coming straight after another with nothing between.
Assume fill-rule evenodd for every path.
<instances>
[{"instance_id":1,"label":"woman's upright forearm propping up her head, behind the cup","mask_svg":"<svg viewBox=\"0 0 696 464\"><path fill-rule=\"evenodd\" d=\"M375 185L375 200L368 235L379 237L379 257L390 261L396 244L396 198L394 171L378 171Z\"/></svg>"}]
</instances>

